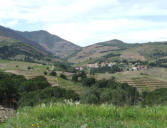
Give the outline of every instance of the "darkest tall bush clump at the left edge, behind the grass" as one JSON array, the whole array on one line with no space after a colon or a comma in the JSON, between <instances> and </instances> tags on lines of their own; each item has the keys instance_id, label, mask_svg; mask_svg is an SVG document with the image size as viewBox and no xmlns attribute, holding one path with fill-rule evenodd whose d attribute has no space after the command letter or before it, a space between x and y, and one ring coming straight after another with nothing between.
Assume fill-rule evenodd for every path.
<instances>
[{"instance_id":1,"label":"darkest tall bush clump at the left edge, behind the grass","mask_svg":"<svg viewBox=\"0 0 167 128\"><path fill-rule=\"evenodd\" d=\"M0 104L16 107L20 98L19 87L24 81L23 76L0 73Z\"/></svg>"}]
</instances>

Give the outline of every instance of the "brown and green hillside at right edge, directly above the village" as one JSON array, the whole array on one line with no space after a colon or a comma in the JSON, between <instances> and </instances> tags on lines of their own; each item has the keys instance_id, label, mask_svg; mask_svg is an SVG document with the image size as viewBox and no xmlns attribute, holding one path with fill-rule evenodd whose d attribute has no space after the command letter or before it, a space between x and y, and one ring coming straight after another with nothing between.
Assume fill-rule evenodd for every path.
<instances>
[{"instance_id":1,"label":"brown and green hillside at right edge, directly above the village","mask_svg":"<svg viewBox=\"0 0 167 128\"><path fill-rule=\"evenodd\" d=\"M167 42L150 42L122 51L121 58L127 60L154 61L167 57Z\"/></svg>"}]
</instances>

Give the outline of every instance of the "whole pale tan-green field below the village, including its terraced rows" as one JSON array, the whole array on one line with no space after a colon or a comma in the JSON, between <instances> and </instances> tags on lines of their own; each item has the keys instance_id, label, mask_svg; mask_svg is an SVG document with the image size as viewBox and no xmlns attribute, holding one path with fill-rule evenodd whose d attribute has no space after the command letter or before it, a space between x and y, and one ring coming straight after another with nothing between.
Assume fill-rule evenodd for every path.
<instances>
[{"instance_id":1,"label":"whole pale tan-green field below the village, including its terraced rows","mask_svg":"<svg viewBox=\"0 0 167 128\"><path fill-rule=\"evenodd\" d=\"M109 79L112 76L114 76L117 81L137 87L139 91L167 88L167 69L165 68L151 68L141 71L95 75L97 79Z\"/></svg>"}]
</instances>

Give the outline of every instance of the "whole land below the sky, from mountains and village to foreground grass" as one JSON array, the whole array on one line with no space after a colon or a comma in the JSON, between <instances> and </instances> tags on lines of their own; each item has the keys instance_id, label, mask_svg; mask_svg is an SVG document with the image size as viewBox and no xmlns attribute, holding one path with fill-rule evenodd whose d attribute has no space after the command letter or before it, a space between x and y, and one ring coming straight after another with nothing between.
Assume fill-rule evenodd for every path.
<instances>
[{"instance_id":1,"label":"whole land below the sky, from mountains and village to foreground grass","mask_svg":"<svg viewBox=\"0 0 167 128\"><path fill-rule=\"evenodd\" d=\"M80 47L0 26L2 128L164 128L166 96L167 42Z\"/></svg>"}]
</instances>

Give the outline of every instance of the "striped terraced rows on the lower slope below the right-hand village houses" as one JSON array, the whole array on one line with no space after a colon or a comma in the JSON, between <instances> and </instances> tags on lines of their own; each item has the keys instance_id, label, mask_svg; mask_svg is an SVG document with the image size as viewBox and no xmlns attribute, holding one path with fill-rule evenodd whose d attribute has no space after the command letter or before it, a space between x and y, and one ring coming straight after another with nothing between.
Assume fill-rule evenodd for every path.
<instances>
[{"instance_id":1,"label":"striped terraced rows on the lower slope below the right-hand village houses","mask_svg":"<svg viewBox=\"0 0 167 128\"><path fill-rule=\"evenodd\" d=\"M138 88L139 91L155 90L158 88L167 88L167 82L151 79L147 77L133 78L132 80L122 80L121 83L128 83L131 86Z\"/></svg>"}]
</instances>

